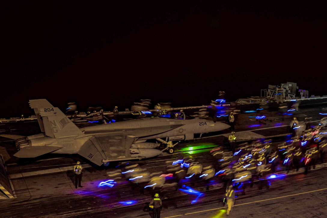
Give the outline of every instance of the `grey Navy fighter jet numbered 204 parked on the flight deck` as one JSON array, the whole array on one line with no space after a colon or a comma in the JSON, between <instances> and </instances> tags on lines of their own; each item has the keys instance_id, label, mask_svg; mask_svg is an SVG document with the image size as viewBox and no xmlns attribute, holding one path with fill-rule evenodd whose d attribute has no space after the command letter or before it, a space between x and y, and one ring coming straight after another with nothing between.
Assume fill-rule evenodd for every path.
<instances>
[{"instance_id":1,"label":"grey Navy fighter jet numbered 204 parked on the flight deck","mask_svg":"<svg viewBox=\"0 0 327 218\"><path fill-rule=\"evenodd\" d=\"M58 107L46 99L30 100L42 134L16 140L16 157L37 157L42 154L80 154L97 165L109 165L110 161L123 161L154 157L164 150L174 152L170 140L194 138L194 134L215 132L230 126L206 119L186 116L184 113L163 114L158 117L126 120L78 128ZM158 139L167 144L158 150Z\"/></svg>"}]
</instances>

